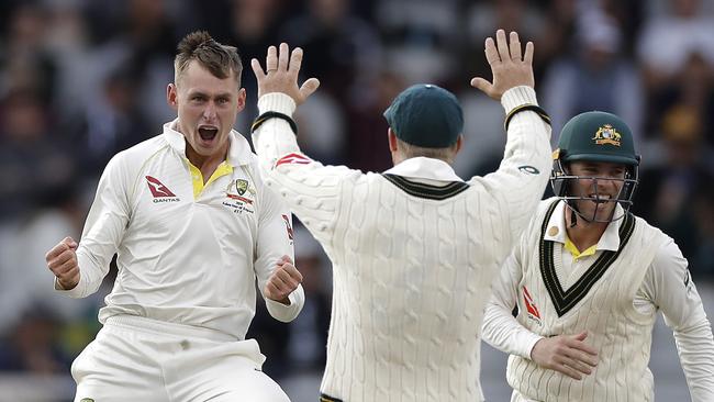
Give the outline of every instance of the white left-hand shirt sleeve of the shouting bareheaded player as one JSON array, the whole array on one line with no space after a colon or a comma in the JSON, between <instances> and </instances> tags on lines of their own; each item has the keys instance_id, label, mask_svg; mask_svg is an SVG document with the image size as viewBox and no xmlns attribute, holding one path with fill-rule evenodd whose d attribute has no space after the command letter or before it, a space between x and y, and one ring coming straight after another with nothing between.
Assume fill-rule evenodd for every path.
<instances>
[{"instance_id":1,"label":"white left-hand shirt sleeve of the shouting bareheaded player","mask_svg":"<svg viewBox=\"0 0 714 402\"><path fill-rule=\"evenodd\" d=\"M77 248L79 282L64 290L55 279L55 290L70 298L85 298L99 289L126 232L131 216L127 192L131 178L124 160L123 154L114 156L99 179Z\"/></svg>"}]
</instances>

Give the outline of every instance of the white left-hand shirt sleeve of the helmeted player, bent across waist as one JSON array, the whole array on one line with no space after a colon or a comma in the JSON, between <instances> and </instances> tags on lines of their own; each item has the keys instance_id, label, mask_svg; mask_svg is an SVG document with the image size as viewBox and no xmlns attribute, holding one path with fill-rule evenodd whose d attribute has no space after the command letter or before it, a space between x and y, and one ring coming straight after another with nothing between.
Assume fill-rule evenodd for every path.
<instances>
[{"instance_id":1,"label":"white left-hand shirt sleeve of the helmeted player, bent across waist","mask_svg":"<svg viewBox=\"0 0 714 402\"><path fill-rule=\"evenodd\" d=\"M522 242L525 237L521 238ZM522 246L517 245L505 259L499 278L493 282L491 300L483 314L482 336L489 345L503 353L529 359L531 350L543 336L528 331L512 314L523 278L518 257Z\"/></svg>"}]
</instances>

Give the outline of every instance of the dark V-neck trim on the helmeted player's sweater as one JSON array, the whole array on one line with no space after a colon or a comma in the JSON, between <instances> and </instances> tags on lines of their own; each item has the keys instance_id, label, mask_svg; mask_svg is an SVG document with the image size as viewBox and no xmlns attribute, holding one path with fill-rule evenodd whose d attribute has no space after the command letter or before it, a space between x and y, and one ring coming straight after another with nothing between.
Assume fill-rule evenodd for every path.
<instances>
[{"instance_id":1,"label":"dark V-neck trim on the helmeted player's sweater","mask_svg":"<svg viewBox=\"0 0 714 402\"><path fill-rule=\"evenodd\" d=\"M548 290L548 294L550 294L550 300L553 301L553 305L555 306L558 316L562 316L588 294L595 282L602 278L607 268L615 261L615 259L617 259L620 253L623 250L623 248L625 248L627 242L629 242L629 237L635 231L635 217L631 213L627 213L623 219L618 231L620 248L616 252L604 250L600 257L598 257L598 259L590 266L590 268L588 268L585 273L580 277L580 279L578 279L578 281L570 289L568 289L568 291L565 291L562 290L562 286L558 280L555 264L553 263L553 250L555 242L545 239L548 222L550 221L553 211L556 209L558 202L559 200L555 201L550 206L548 206L546 216L543 220L538 252L543 281L546 286L546 289Z\"/></svg>"}]
</instances>

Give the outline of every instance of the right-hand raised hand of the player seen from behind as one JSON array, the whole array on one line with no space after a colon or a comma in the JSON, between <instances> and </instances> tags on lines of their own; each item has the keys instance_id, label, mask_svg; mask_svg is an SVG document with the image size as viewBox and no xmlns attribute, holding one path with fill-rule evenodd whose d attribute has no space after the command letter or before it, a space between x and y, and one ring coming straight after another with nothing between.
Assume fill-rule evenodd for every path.
<instances>
[{"instance_id":1,"label":"right-hand raised hand of the player seen from behind","mask_svg":"<svg viewBox=\"0 0 714 402\"><path fill-rule=\"evenodd\" d=\"M525 45L525 54L521 53L521 41L516 32L511 32L511 41L506 41L505 31L495 33L486 40L486 59L491 66L493 82L481 77L471 79L471 87L478 88L489 97L501 100L503 92L513 87L535 85L533 78L533 42Z\"/></svg>"}]
</instances>

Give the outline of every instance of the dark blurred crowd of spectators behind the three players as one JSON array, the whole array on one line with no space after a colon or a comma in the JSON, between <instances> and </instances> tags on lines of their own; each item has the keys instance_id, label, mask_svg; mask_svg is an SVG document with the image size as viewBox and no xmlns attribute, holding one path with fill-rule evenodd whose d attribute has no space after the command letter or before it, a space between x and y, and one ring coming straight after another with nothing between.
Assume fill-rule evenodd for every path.
<instances>
[{"instance_id":1,"label":"dark blurred crowd of spectators behind the three players","mask_svg":"<svg viewBox=\"0 0 714 402\"><path fill-rule=\"evenodd\" d=\"M644 155L635 213L676 239L696 281L714 280L714 0L2 0L0 372L66 373L98 331L111 275L69 300L53 293L44 254L79 238L109 158L175 118L166 85L185 34L238 47L243 134L256 115L250 58L301 46L305 78L322 86L299 110L299 141L326 164L387 169L391 99L415 82L450 89L466 116L466 178L498 167L505 144L501 105L468 86L490 79L483 41L499 27L536 44L554 133L587 110L631 124ZM330 321L328 260L297 231L305 308L287 325L258 303L250 330L278 380L321 370Z\"/></svg>"}]
</instances>

